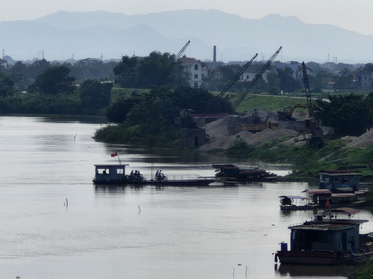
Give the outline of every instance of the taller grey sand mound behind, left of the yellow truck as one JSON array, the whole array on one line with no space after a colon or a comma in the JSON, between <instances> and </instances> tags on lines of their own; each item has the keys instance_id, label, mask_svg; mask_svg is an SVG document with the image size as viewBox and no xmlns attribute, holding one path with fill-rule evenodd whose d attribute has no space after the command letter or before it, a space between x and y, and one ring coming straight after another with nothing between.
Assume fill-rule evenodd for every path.
<instances>
[{"instance_id":1,"label":"taller grey sand mound behind, left of the yellow truck","mask_svg":"<svg viewBox=\"0 0 373 279\"><path fill-rule=\"evenodd\" d=\"M241 118L238 115L228 115L228 117L210 122L204 125L202 128L205 128L206 134L210 136L235 135L242 131Z\"/></svg>"}]
</instances>

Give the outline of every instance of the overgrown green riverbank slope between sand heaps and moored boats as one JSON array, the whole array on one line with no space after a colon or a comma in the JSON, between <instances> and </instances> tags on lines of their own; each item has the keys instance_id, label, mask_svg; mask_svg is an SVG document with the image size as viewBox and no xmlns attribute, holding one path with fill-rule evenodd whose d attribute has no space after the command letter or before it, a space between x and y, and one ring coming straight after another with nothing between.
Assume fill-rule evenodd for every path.
<instances>
[{"instance_id":1,"label":"overgrown green riverbank slope between sand heaps and moored boats","mask_svg":"<svg viewBox=\"0 0 373 279\"><path fill-rule=\"evenodd\" d=\"M373 146L363 149L348 148L343 140L324 140L324 147L314 150L305 145L284 144L285 140L286 138L282 141L266 142L256 148L245 142L233 142L227 153L233 158L292 164L294 170L286 177L288 181L316 182L317 171L337 169L339 166L348 166L350 169L354 169L354 166L366 166L365 169L357 170L363 174L361 181L373 179L373 171L369 169ZM328 162L332 160L339 161Z\"/></svg>"}]
</instances>

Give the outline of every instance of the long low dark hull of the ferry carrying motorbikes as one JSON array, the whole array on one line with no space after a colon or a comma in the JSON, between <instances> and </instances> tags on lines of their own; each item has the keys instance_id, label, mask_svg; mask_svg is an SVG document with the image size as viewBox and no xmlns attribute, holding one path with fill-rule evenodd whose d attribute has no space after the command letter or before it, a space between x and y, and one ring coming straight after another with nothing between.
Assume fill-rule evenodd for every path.
<instances>
[{"instance_id":1,"label":"long low dark hull of the ferry carrying motorbikes","mask_svg":"<svg viewBox=\"0 0 373 279\"><path fill-rule=\"evenodd\" d=\"M176 186L207 186L216 180L214 179L197 179L197 180L93 180L95 184L106 185L176 185Z\"/></svg>"}]
</instances>

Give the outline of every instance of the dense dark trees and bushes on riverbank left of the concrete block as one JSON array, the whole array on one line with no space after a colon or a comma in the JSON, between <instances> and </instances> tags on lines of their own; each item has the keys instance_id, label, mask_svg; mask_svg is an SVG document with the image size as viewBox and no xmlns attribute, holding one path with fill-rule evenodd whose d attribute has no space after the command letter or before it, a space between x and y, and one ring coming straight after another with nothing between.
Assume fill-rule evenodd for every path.
<instances>
[{"instance_id":1,"label":"dense dark trees and bushes on riverbank left of the concrete block","mask_svg":"<svg viewBox=\"0 0 373 279\"><path fill-rule=\"evenodd\" d=\"M182 109L232 112L227 99L219 99L207 90L191 87L170 90L168 87L157 87L149 94L118 99L108 108L107 117L110 122L119 125L98 130L95 138L107 142L165 147L169 142L179 140L180 127L174 123Z\"/></svg>"}]
</instances>

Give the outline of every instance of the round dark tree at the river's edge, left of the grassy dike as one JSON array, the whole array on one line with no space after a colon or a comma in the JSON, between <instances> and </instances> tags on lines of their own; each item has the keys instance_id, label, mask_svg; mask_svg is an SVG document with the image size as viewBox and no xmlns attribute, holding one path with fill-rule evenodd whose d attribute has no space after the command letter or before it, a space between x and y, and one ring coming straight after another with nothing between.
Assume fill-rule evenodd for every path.
<instances>
[{"instance_id":1,"label":"round dark tree at the river's edge, left of the grassy dike","mask_svg":"<svg viewBox=\"0 0 373 279\"><path fill-rule=\"evenodd\" d=\"M76 93L80 97L82 108L97 110L110 104L112 88L111 83L100 83L98 80L88 79L76 89Z\"/></svg>"}]
</instances>

